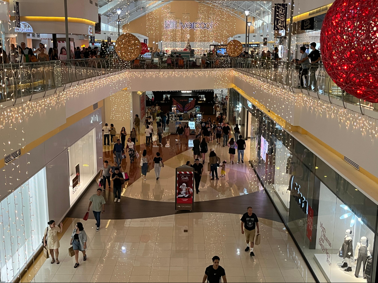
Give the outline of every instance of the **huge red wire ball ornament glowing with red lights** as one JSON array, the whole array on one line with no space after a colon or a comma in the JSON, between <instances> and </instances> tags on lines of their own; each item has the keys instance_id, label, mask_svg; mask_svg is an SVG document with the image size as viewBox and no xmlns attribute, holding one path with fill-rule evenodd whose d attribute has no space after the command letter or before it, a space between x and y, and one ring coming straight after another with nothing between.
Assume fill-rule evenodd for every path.
<instances>
[{"instance_id":1,"label":"huge red wire ball ornament glowing with red lights","mask_svg":"<svg viewBox=\"0 0 378 283\"><path fill-rule=\"evenodd\" d=\"M378 102L378 0L335 0L324 17L320 45L337 86Z\"/></svg>"}]
</instances>

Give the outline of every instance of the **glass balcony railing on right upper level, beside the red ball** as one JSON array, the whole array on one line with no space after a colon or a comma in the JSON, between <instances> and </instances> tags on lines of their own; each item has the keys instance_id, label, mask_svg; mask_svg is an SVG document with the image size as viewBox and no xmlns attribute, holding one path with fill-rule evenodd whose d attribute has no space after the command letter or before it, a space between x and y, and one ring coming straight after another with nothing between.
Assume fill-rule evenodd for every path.
<instances>
[{"instance_id":1,"label":"glass balcony railing on right upper level, beside the red ball","mask_svg":"<svg viewBox=\"0 0 378 283\"><path fill-rule=\"evenodd\" d=\"M245 59L235 58L232 60L232 68L243 74L262 78L268 83L282 85L294 91L300 89L301 92L310 94L315 92L327 95L331 102L331 97L345 103L352 103L362 108L378 111L378 103L371 103L360 100L339 88L329 77L323 64L308 64L285 61L273 61L269 59ZM302 82L301 82L302 77ZM320 98L320 97L319 97Z\"/></svg>"}]
</instances>

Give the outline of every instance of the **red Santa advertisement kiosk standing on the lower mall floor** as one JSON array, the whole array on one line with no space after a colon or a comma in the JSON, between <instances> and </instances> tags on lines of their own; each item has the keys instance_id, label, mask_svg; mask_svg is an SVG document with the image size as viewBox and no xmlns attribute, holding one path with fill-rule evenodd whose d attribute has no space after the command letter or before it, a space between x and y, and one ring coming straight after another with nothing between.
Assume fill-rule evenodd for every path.
<instances>
[{"instance_id":1,"label":"red Santa advertisement kiosk standing on the lower mall floor","mask_svg":"<svg viewBox=\"0 0 378 283\"><path fill-rule=\"evenodd\" d=\"M176 168L176 210L193 209L193 168L183 165Z\"/></svg>"}]
</instances>

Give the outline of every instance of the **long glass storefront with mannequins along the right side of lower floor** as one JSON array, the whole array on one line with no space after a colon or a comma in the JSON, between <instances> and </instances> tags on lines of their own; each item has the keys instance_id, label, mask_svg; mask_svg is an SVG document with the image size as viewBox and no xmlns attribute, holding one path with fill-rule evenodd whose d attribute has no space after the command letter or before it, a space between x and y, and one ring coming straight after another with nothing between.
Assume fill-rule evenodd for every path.
<instances>
[{"instance_id":1,"label":"long glass storefront with mannequins along the right side of lower floor","mask_svg":"<svg viewBox=\"0 0 378 283\"><path fill-rule=\"evenodd\" d=\"M250 163L313 274L374 282L377 205L254 105L251 113Z\"/></svg>"}]
</instances>

